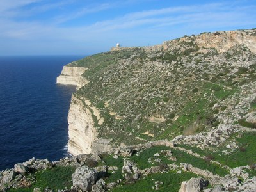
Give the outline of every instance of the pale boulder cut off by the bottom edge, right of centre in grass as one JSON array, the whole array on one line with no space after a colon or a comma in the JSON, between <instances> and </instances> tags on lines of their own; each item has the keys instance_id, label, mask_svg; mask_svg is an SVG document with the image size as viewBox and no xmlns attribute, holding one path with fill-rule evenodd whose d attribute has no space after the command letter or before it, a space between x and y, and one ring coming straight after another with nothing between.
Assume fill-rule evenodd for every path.
<instances>
[{"instance_id":1,"label":"pale boulder cut off by the bottom edge, right of centre in grass","mask_svg":"<svg viewBox=\"0 0 256 192\"><path fill-rule=\"evenodd\" d=\"M179 192L200 192L205 186L205 181L202 177L191 178L188 181L182 182Z\"/></svg>"}]
</instances>

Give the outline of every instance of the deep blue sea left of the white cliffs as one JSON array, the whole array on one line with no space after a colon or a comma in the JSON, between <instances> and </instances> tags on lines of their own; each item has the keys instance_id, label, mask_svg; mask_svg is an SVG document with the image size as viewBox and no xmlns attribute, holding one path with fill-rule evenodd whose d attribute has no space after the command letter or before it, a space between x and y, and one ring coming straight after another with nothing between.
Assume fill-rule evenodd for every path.
<instances>
[{"instance_id":1,"label":"deep blue sea left of the white cliffs","mask_svg":"<svg viewBox=\"0 0 256 192\"><path fill-rule=\"evenodd\" d=\"M0 170L68 154L67 115L76 88L56 84L56 77L80 58L0 56Z\"/></svg>"}]
</instances>

